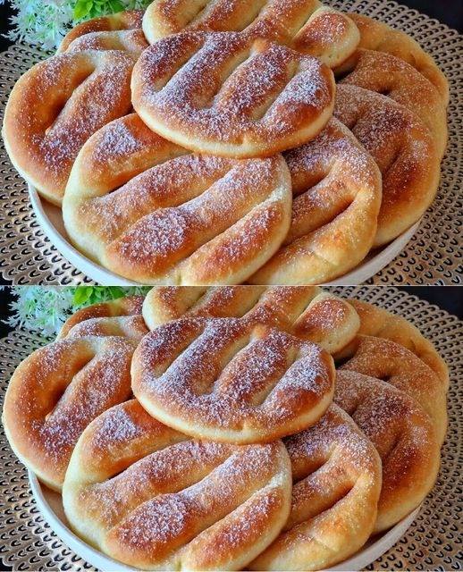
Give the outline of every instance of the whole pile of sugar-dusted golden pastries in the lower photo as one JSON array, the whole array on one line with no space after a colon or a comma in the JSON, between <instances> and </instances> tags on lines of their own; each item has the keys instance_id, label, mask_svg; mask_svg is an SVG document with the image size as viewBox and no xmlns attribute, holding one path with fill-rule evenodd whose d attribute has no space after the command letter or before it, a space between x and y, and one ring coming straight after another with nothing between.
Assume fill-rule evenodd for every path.
<instances>
[{"instance_id":1,"label":"whole pile of sugar-dusted golden pastries in the lower photo","mask_svg":"<svg viewBox=\"0 0 463 572\"><path fill-rule=\"evenodd\" d=\"M21 461L135 568L318 570L425 499L448 371L412 324L317 287L156 287L87 307L5 400Z\"/></svg>"}]
</instances>

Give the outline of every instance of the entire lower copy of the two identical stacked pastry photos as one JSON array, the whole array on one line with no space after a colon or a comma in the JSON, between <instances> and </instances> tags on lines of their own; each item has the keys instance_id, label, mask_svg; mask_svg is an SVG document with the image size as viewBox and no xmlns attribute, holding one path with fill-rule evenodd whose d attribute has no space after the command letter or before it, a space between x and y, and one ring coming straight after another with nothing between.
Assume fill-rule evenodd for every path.
<instances>
[{"instance_id":1,"label":"entire lower copy of the two identical stacked pastry photos","mask_svg":"<svg viewBox=\"0 0 463 572\"><path fill-rule=\"evenodd\" d=\"M458 569L460 291L3 288L0 570Z\"/></svg>"}]
</instances>

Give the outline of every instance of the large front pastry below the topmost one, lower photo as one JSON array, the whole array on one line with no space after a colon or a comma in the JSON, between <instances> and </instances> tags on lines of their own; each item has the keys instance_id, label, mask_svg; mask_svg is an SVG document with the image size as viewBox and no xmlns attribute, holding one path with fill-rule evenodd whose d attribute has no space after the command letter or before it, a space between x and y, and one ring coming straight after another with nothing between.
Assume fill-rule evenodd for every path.
<instances>
[{"instance_id":1,"label":"large front pastry below the topmost one, lower photo","mask_svg":"<svg viewBox=\"0 0 463 572\"><path fill-rule=\"evenodd\" d=\"M290 513L282 442L194 442L136 400L88 426L72 454L63 505L88 543L132 567L238 570Z\"/></svg>"}]
</instances>

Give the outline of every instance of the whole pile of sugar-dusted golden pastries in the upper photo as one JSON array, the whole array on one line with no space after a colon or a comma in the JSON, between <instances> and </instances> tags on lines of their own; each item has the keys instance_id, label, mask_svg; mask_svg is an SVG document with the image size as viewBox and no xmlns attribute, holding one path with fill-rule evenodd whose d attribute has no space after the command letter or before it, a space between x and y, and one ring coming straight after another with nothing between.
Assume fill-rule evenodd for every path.
<instances>
[{"instance_id":1,"label":"whole pile of sugar-dusted golden pastries in the upper photo","mask_svg":"<svg viewBox=\"0 0 463 572\"><path fill-rule=\"evenodd\" d=\"M13 88L4 143L73 245L149 284L318 284L431 205L449 90L407 34L319 0L155 0Z\"/></svg>"}]
</instances>

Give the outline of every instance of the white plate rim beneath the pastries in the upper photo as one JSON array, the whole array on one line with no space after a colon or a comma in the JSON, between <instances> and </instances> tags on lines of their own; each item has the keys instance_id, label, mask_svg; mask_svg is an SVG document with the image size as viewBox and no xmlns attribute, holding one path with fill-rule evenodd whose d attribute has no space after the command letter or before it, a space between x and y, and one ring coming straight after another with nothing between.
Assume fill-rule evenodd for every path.
<instances>
[{"instance_id":1,"label":"white plate rim beneath the pastries in the upper photo","mask_svg":"<svg viewBox=\"0 0 463 572\"><path fill-rule=\"evenodd\" d=\"M37 216L38 223L45 231L46 236L51 240L54 246L69 260L81 273L86 274L89 278L103 286L136 286L137 282L131 282L126 278L122 278L118 274L105 270L103 266L97 265L95 262L80 254L79 250L74 248L64 229L63 216L61 209L48 203L40 198L34 187L29 185L30 203ZM397 255L406 247L408 241L417 231L421 221L411 226L391 244L376 251L374 255L369 255L362 261L357 268L337 278L333 282L327 284L336 284L337 286L356 286L363 284L375 273L383 270Z\"/></svg>"}]
</instances>

